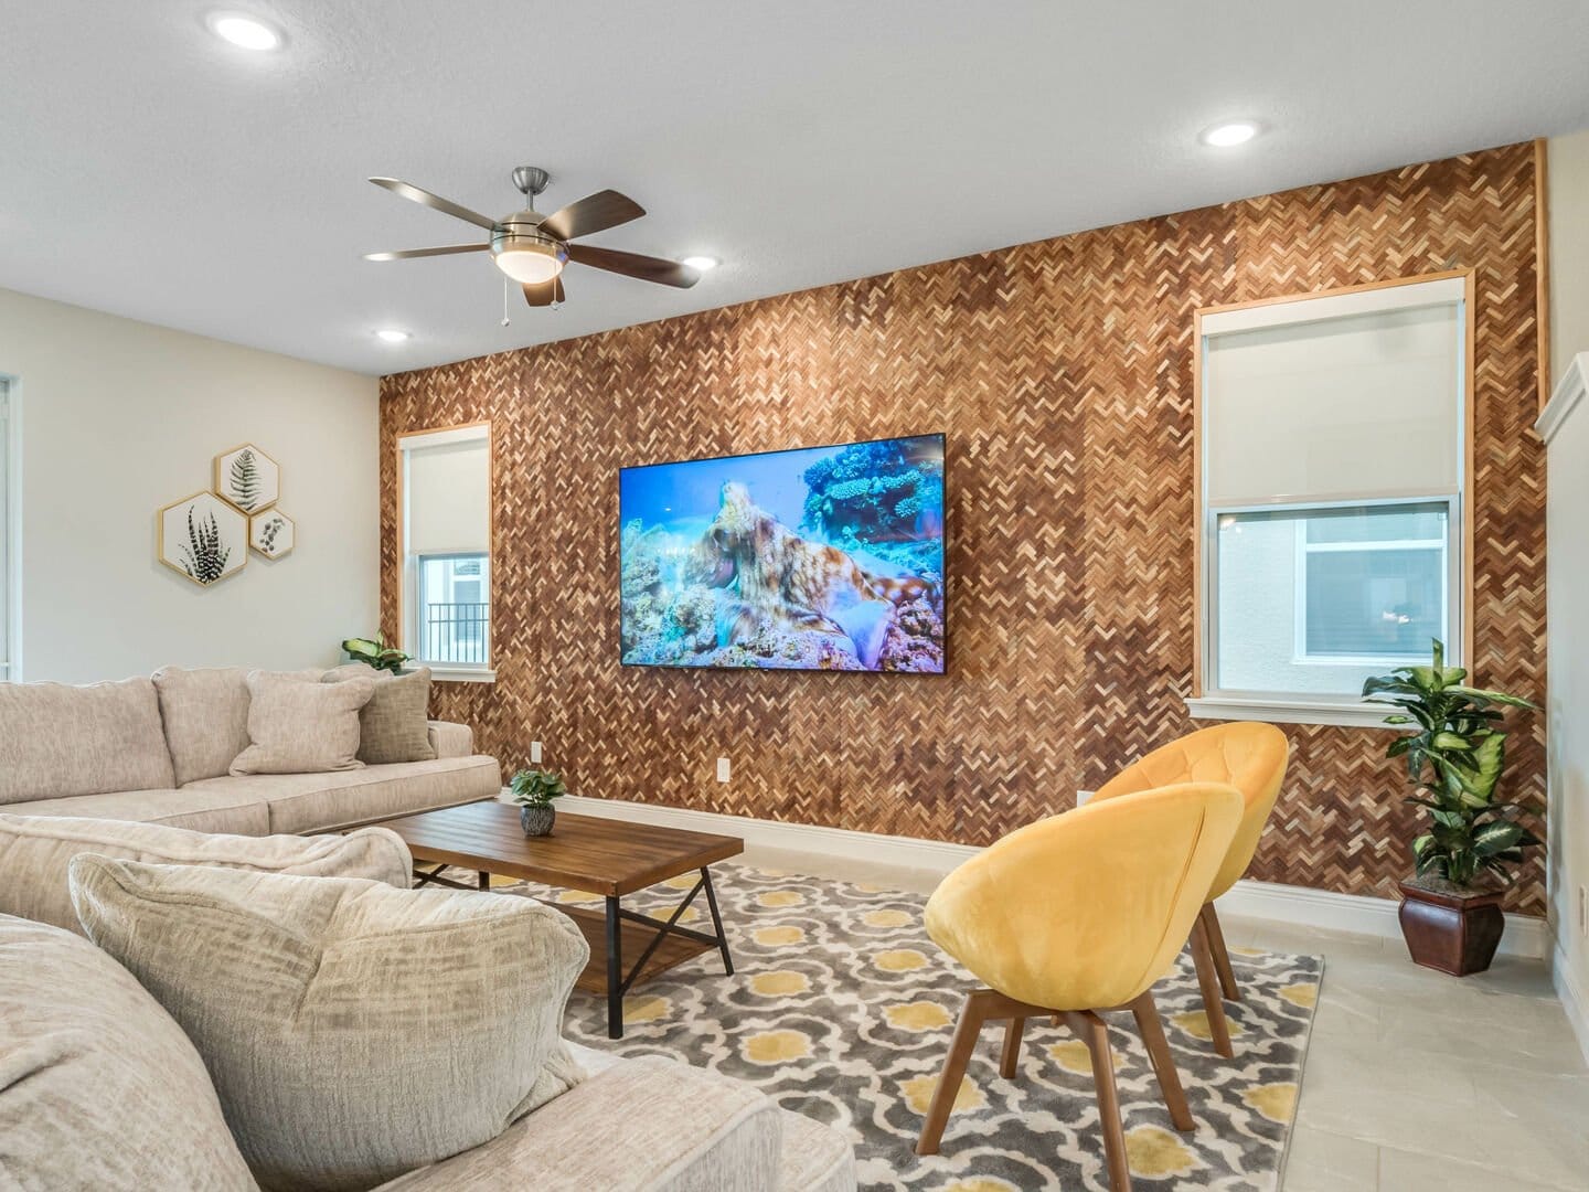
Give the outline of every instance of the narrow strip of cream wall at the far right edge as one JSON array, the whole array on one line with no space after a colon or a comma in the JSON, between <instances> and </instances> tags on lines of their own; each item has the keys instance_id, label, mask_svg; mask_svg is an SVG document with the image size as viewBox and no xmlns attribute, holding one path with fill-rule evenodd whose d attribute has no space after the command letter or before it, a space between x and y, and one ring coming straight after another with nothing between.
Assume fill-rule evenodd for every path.
<instances>
[{"instance_id":1,"label":"narrow strip of cream wall at the far right edge","mask_svg":"<svg viewBox=\"0 0 1589 1192\"><path fill-rule=\"evenodd\" d=\"M1579 888L1589 885L1589 397L1575 402L1575 388L1562 386L1575 356L1578 380L1589 381L1589 132L1557 137L1546 153L1556 383L1541 420L1549 435L1549 917L1557 989L1589 1058L1589 938L1578 919Z\"/></svg>"}]
</instances>

